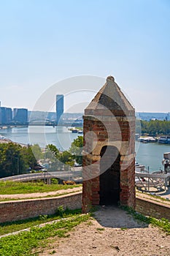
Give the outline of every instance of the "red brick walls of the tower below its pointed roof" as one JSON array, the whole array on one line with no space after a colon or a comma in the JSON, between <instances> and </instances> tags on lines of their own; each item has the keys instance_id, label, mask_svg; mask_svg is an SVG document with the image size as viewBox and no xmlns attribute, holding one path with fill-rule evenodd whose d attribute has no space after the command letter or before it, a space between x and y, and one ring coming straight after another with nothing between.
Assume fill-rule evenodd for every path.
<instances>
[{"instance_id":1,"label":"red brick walls of the tower below its pointed roof","mask_svg":"<svg viewBox=\"0 0 170 256\"><path fill-rule=\"evenodd\" d=\"M87 111L86 111L87 112ZM135 118L84 116L83 186L82 210L87 212L91 205L100 202L99 175L101 150L104 146L120 143L120 205L135 207ZM109 121L108 121L109 119ZM127 121L128 120L128 121ZM106 129L107 127L107 129ZM118 131L118 132L117 132ZM91 132L86 138L86 134ZM93 133L92 133L93 132ZM95 136L96 135L96 136ZM86 138L86 139L85 139ZM94 146L95 145L95 146ZM87 152L90 152L88 154ZM109 156L112 158L112 156Z\"/></svg>"}]
</instances>

